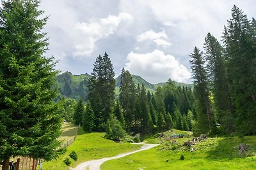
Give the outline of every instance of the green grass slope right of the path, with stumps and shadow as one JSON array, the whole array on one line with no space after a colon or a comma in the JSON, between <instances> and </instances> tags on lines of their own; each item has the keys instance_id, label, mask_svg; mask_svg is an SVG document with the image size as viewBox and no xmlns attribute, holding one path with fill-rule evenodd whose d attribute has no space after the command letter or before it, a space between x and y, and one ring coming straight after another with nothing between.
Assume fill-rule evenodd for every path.
<instances>
[{"instance_id":1,"label":"green grass slope right of the path, with stumps and shadow","mask_svg":"<svg viewBox=\"0 0 256 170\"><path fill-rule=\"evenodd\" d=\"M168 141L150 150L109 160L101 169L256 169L256 136L208 138L191 146L194 152L182 146L188 138L176 140L177 145ZM236 148L240 143L248 145L242 155ZM181 155L184 160L180 160Z\"/></svg>"}]
</instances>

